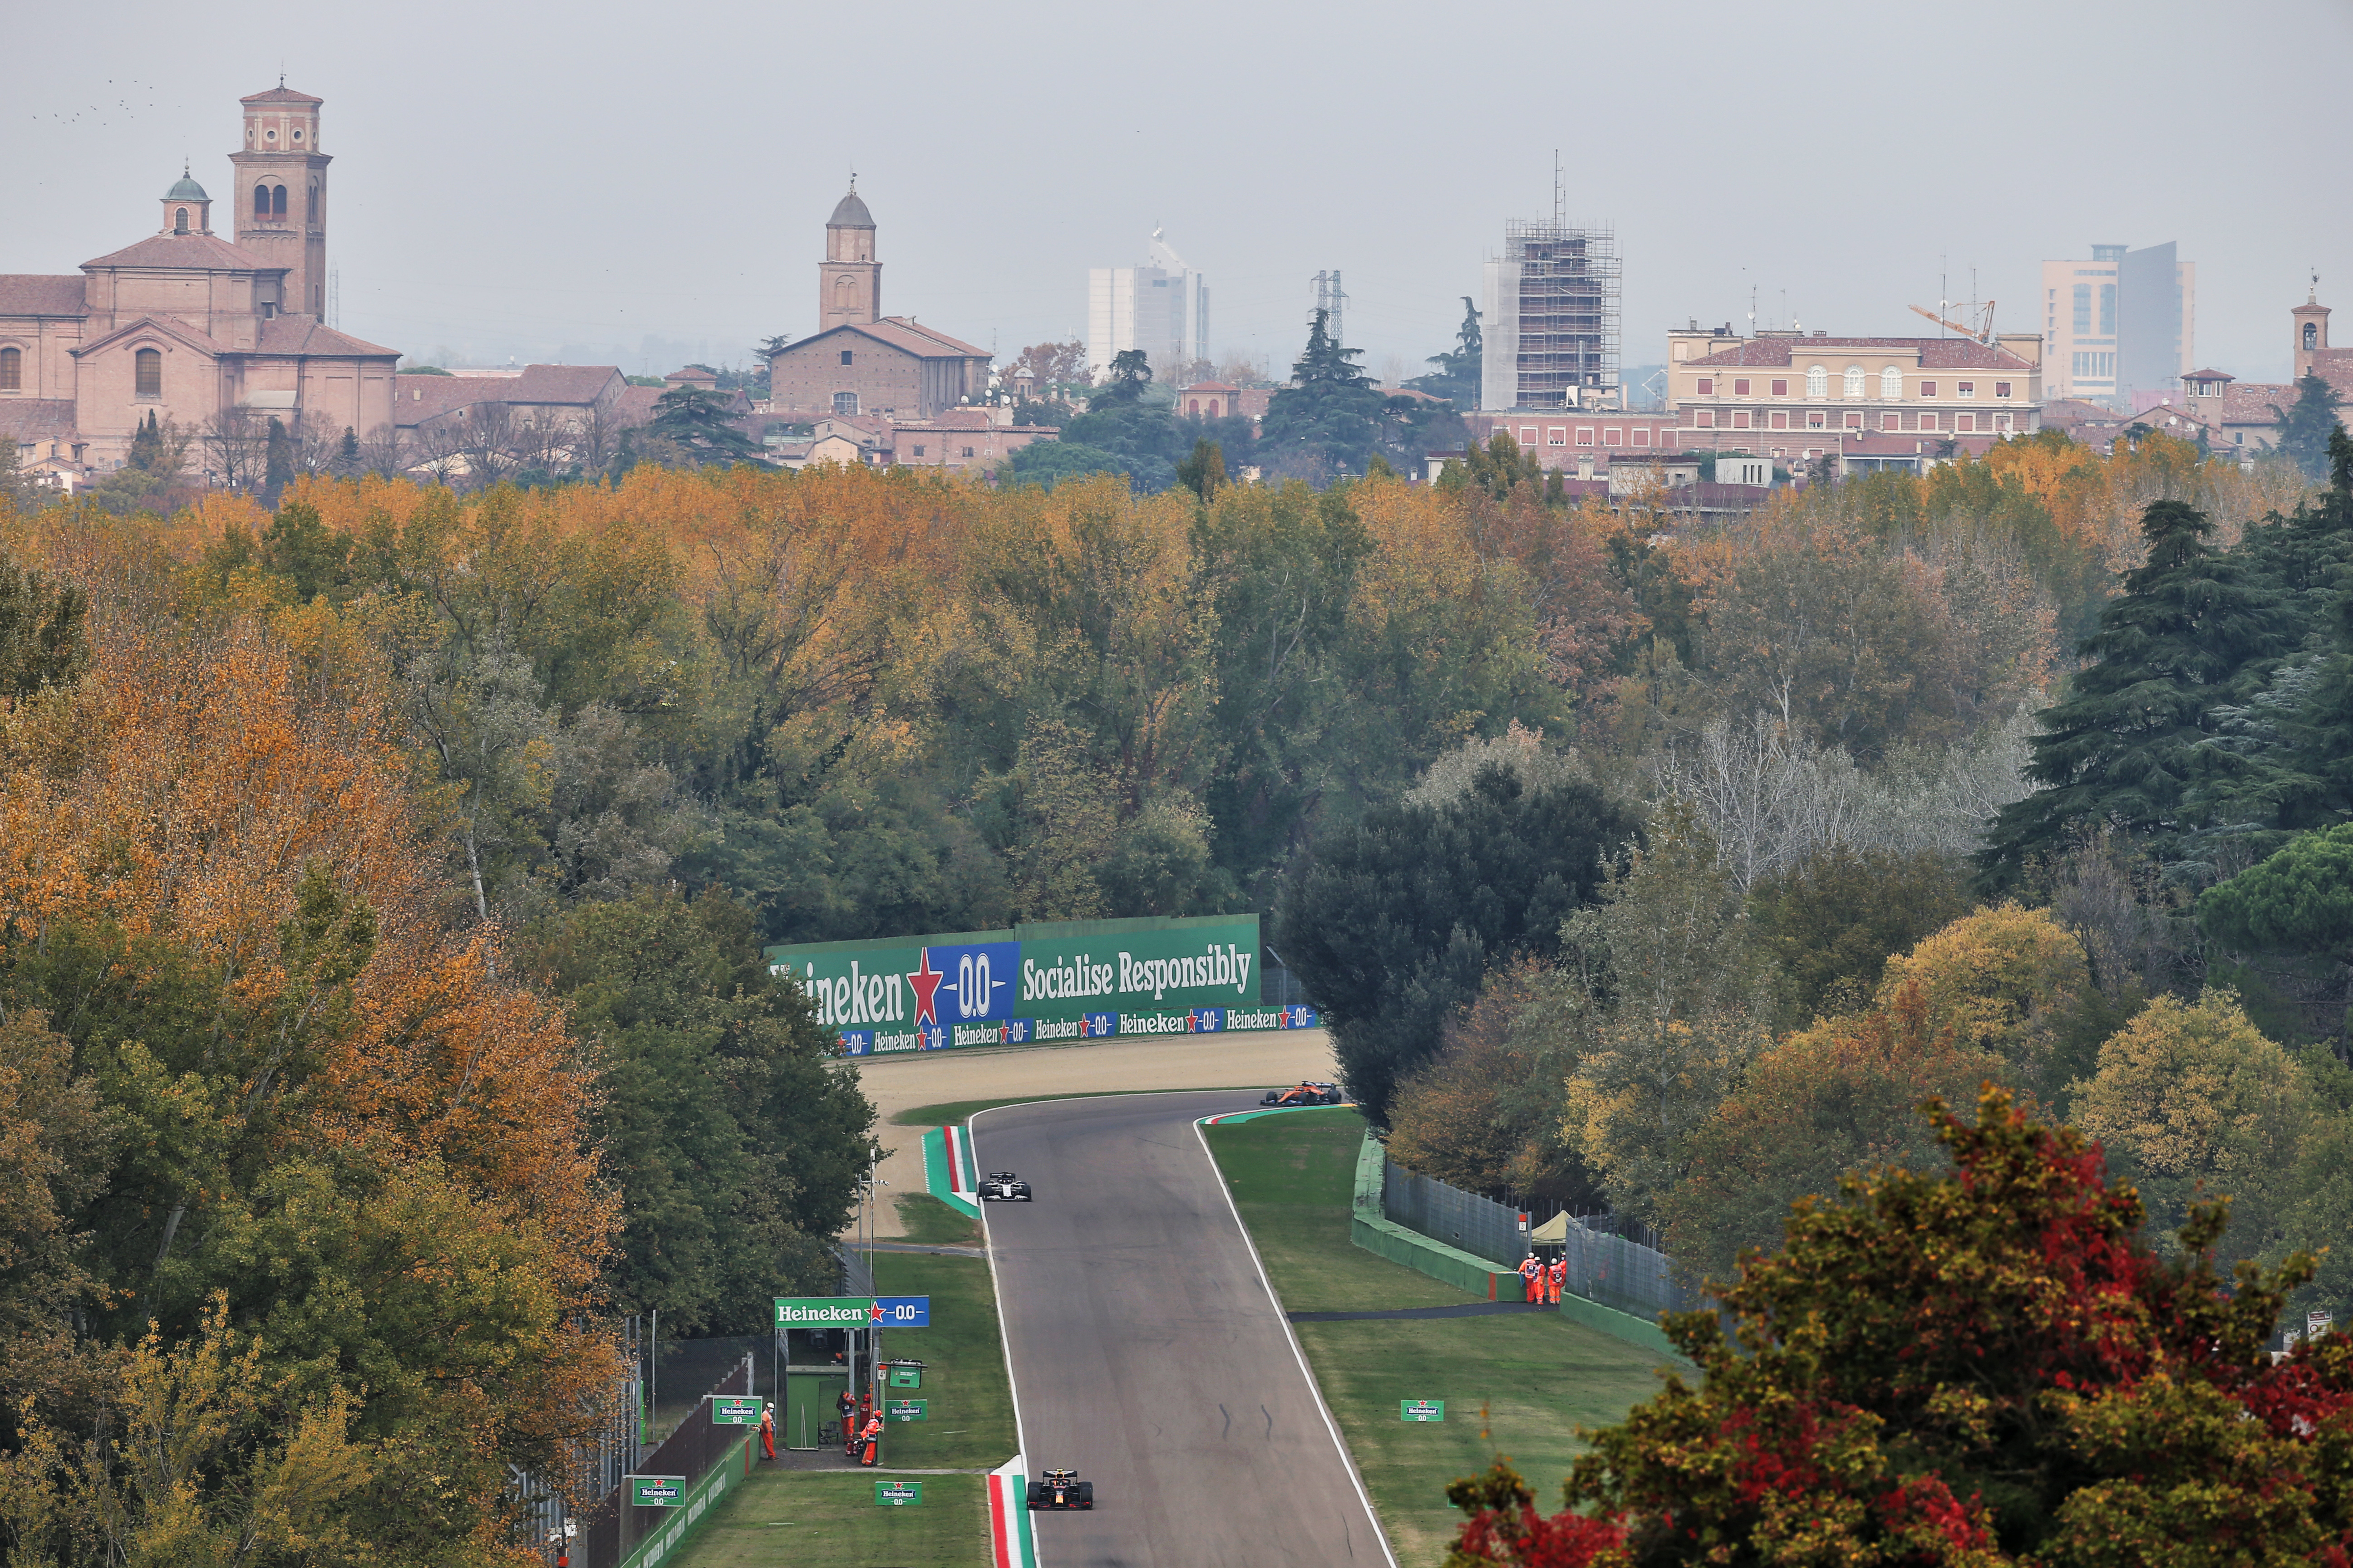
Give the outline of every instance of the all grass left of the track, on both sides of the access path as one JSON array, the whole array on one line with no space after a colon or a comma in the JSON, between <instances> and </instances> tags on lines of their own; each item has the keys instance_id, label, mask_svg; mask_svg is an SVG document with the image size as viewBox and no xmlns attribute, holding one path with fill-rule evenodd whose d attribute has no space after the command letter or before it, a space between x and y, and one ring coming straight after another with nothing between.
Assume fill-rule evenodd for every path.
<instances>
[{"instance_id":1,"label":"all grass left of the track, on both sides of the access path","mask_svg":"<svg viewBox=\"0 0 2353 1568\"><path fill-rule=\"evenodd\" d=\"M951 1220L946 1204L922 1199ZM929 1295L932 1326L885 1338L885 1356L925 1363L929 1420L894 1422L882 1443L889 1469L969 1474L896 1476L922 1481L922 1507L875 1507L871 1469L779 1469L762 1465L704 1523L680 1568L880 1568L887 1563L988 1563L988 1495L979 1476L1014 1455L1014 1401L988 1265L976 1258L875 1253L875 1288Z\"/></svg>"}]
</instances>

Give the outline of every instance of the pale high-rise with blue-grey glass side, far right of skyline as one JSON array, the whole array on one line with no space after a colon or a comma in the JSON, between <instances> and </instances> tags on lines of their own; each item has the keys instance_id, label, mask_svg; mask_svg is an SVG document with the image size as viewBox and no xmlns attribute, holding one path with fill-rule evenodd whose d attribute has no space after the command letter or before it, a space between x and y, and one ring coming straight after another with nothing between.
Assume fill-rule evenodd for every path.
<instances>
[{"instance_id":1,"label":"pale high-rise with blue-grey glass side, far right of skyline","mask_svg":"<svg viewBox=\"0 0 2353 1568\"><path fill-rule=\"evenodd\" d=\"M2042 367L2052 397L2134 411L2198 364L2198 266L2174 244L2094 244L2089 261L2042 263Z\"/></svg>"}]
</instances>

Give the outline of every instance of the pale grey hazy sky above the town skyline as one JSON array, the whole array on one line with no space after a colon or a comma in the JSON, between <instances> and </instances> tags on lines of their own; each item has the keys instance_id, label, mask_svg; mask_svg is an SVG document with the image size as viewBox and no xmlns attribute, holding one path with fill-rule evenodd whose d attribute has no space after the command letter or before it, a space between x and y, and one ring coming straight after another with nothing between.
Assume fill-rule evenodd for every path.
<instances>
[{"instance_id":1,"label":"pale grey hazy sky above the town skyline","mask_svg":"<svg viewBox=\"0 0 2353 1568\"><path fill-rule=\"evenodd\" d=\"M1504 221L1551 216L1553 148L1617 228L1626 364L1751 289L1760 327L1932 331L1939 268L2033 331L2038 263L2094 240L2198 263L2200 362L2282 378L2311 268L2353 341L2353 0L101 14L12 75L0 270L151 233L181 155L226 228L238 99L282 66L327 99L341 324L414 355L744 360L809 331L856 169L882 308L1005 357L1082 334L1087 268L1160 223L1217 350L1289 364L1341 268L1365 364L1419 371Z\"/></svg>"}]
</instances>

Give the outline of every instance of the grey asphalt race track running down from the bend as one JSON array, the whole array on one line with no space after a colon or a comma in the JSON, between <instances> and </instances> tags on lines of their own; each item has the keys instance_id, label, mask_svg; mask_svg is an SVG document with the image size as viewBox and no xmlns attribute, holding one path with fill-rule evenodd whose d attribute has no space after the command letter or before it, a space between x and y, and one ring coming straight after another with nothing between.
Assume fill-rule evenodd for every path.
<instances>
[{"instance_id":1,"label":"grey asphalt race track running down from the bend","mask_svg":"<svg viewBox=\"0 0 2353 1568\"><path fill-rule=\"evenodd\" d=\"M1031 1514L1040 1568L1391 1568L1195 1117L1247 1091L1007 1105L972 1119L1031 1474L1092 1514Z\"/></svg>"}]
</instances>

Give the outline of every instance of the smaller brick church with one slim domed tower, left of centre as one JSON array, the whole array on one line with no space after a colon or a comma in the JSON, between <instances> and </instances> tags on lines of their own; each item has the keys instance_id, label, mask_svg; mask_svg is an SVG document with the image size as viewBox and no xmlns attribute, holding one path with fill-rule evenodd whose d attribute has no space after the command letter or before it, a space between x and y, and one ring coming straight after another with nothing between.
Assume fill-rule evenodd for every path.
<instances>
[{"instance_id":1,"label":"smaller brick church with one slim domed tower, left of centre","mask_svg":"<svg viewBox=\"0 0 2353 1568\"><path fill-rule=\"evenodd\" d=\"M805 418L939 418L988 397L988 357L986 348L920 327L911 315L882 315L875 221L852 179L849 195L826 219L816 336L767 357L769 409Z\"/></svg>"}]
</instances>

